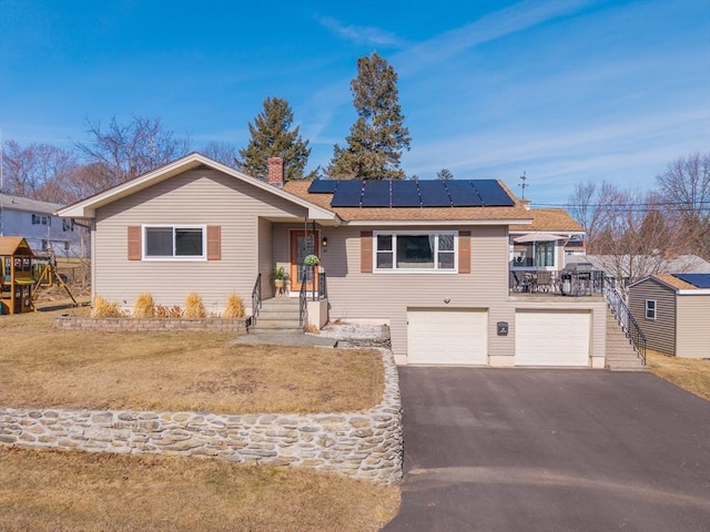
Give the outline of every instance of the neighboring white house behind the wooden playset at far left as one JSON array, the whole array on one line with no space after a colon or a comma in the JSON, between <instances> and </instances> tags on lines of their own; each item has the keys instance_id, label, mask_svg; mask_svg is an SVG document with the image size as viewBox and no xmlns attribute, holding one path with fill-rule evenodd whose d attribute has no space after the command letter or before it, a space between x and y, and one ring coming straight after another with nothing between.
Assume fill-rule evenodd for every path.
<instances>
[{"instance_id":1,"label":"neighboring white house behind the wooden playset at far left","mask_svg":"<svg viewBox=\"0 0 710 532\"><path fill-rule=\"evenodd\" d=\"M0 236L22 236L34 253L58 257L90 256L88 231L54 213L63 205L0 193Z\"/></svg>"}]
</instances>

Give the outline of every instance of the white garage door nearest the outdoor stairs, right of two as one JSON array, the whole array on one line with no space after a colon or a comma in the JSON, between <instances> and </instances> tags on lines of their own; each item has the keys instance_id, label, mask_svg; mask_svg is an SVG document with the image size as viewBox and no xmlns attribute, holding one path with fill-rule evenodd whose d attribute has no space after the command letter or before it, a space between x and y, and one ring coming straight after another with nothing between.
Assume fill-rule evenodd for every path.
<instances>
[{"instance_id":1,"label":"white garage door nearest the outdoor stairs, right of two","mask_svg":"<svg viewBox=\"0 0 710 532\"><path fill-rule=\"evenodd\" d=\"M518 310L516 366L589 366L590 314Z\"/></svg>"}]
</instances>

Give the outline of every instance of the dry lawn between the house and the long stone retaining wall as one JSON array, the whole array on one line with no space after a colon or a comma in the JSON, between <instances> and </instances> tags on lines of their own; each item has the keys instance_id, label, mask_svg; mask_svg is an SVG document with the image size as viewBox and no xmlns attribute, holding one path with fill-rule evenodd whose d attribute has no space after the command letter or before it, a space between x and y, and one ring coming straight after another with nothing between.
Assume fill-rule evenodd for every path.
<instances>
[{"instance_id":1,"label":"dry lawn between the house and the long stone retaining wall","mask_svg":"<svg viewBox=\"0 0 710 532\"><path fill-rule=\"evenodd\" d=\"M51 326L57 315L0 317L1 406L240 415L353 411L382 400L382 357L372 349L231 345L232 335L214 332L60 330Z\"/></svg>"}]
</instances>

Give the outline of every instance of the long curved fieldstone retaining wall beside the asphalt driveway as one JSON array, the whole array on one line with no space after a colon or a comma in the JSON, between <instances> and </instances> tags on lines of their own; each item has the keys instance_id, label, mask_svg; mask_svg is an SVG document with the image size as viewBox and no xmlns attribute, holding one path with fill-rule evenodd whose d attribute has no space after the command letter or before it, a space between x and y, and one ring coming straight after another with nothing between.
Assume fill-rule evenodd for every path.
<instances>
[{"instance_id":1,"label":"long curved fieldstone retaining wall beside the asphalt driveway","mask_svg":"<svg viewBox=\"0 0 710 532\"><path fill-rule=\"evenodd\" d=\"M363 412L230 416L0 408L0 443L307 467L393 484L402 480L402 402L389 351L383 350L383 401Z\"/></svg>"}]
</instances>

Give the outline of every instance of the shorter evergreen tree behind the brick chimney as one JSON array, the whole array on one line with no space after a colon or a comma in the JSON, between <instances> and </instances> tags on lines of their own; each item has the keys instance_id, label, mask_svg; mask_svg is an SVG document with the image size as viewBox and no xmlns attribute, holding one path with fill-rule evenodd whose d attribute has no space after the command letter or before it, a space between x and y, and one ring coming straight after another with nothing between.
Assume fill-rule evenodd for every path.
<instances>
[{"instance_id":1,"label":"shorter evergreen tree behind the brick chimney","mask_svg":"<svg viewBox=\"0 0 710 532\"><path fill-rule=\"evenodd\" d=\"M248 124L252 139L244 150L240 150L241 168L263 180L267 175L266 160L283 157L286 181L312 178L303 174L311 155L308 141L301 139L298 126L291 130L292 122L288 102L280 98L264 100L264 110L256 115L254 124Z\"/></svg>"}]
</instances>

